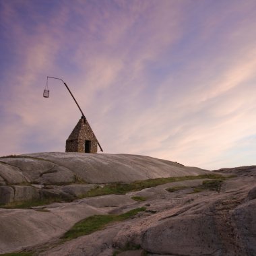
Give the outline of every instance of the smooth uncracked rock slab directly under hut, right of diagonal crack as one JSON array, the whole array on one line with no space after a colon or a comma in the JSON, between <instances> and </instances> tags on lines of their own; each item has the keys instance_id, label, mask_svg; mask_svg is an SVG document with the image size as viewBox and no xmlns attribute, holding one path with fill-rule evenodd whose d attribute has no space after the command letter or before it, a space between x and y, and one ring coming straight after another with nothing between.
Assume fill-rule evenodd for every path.
<instances>
[{"instance_id":1,"label":"smooth uncracked rock slab directly under hut, right of diagonal crack","mask_svg":"<svg viewBox=\"0 0 256 256\"><path fill-rule=\"evenodd\" d=\"M127 154L35 153L41 158L64 166L86 183L129 183L160 177L205 174L208 171L148 156Z\"/></svg>"}]
</instances>

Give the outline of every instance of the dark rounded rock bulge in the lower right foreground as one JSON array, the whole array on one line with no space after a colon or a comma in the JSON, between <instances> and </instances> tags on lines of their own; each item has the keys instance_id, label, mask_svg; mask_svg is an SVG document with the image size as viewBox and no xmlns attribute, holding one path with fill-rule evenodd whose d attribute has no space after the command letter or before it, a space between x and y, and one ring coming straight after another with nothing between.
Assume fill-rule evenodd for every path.
<instances>
[{"instance_id":1,"label":"dark rounded rock bulge in the lower right foreground","mask_svg":"<svg viewBox=\"0 0 256 256\"><path fill-rule=\"evenodd\" d=\"M142 247L146 251L169 255L218 255L222 242L214 216L174 217L148 228Z\"/></svg>"}]
</instances>

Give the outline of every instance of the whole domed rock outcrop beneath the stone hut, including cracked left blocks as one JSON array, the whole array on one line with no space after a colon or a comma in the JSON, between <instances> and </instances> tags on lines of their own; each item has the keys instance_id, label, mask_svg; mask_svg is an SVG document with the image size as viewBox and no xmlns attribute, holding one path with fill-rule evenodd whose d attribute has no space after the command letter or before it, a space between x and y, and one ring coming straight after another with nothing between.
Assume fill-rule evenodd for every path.
<instances>
[{"instance_id":1,"label":"whole domed rock outcrop beneath the stone hut, including cracked left blocks","mask_svg":"<svg viewBox=\"0 0 256 256\"><path fill-rule=\"evenodd\" d=\"M37 153L5 157L0 158L0 204L48 197L75 199L95 184L205 173L177 162L125 154Z\"/></svg>"}]
</instances>

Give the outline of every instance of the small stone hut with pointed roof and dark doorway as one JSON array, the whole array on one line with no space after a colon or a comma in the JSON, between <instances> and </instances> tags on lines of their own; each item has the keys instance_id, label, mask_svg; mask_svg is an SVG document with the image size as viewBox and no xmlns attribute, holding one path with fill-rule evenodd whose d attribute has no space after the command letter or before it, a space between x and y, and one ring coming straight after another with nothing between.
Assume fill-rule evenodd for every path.
<instances>
[{"instance_id":1,"label":"small stone hut with pointed roof and dark doorway","mask_svg":"<svg viewBox=\"0 0 256 256\"><path fill-rule=\"evenodd\" d=\"M66 140L66 152L97 153L97 145L100 146L86 117L81 117Z\"/></svg>"}]
</instances>

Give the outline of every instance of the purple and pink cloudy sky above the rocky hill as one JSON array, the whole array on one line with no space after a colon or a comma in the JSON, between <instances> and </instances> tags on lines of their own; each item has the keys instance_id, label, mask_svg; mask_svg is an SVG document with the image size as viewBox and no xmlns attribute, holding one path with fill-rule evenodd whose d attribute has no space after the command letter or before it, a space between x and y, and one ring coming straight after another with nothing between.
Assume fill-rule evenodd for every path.
<instances>
[{"instance_id":1,"label":"purple and pink cloudy sky above the rocky hill","mask_svg":"<svg viewBox=\"0 0 256 256\"><path fill-rule=\"evenodd\" d=\"M0 0L0 156L104 153L256 164L255 0Z\"/></svg>"}]
</instances>

